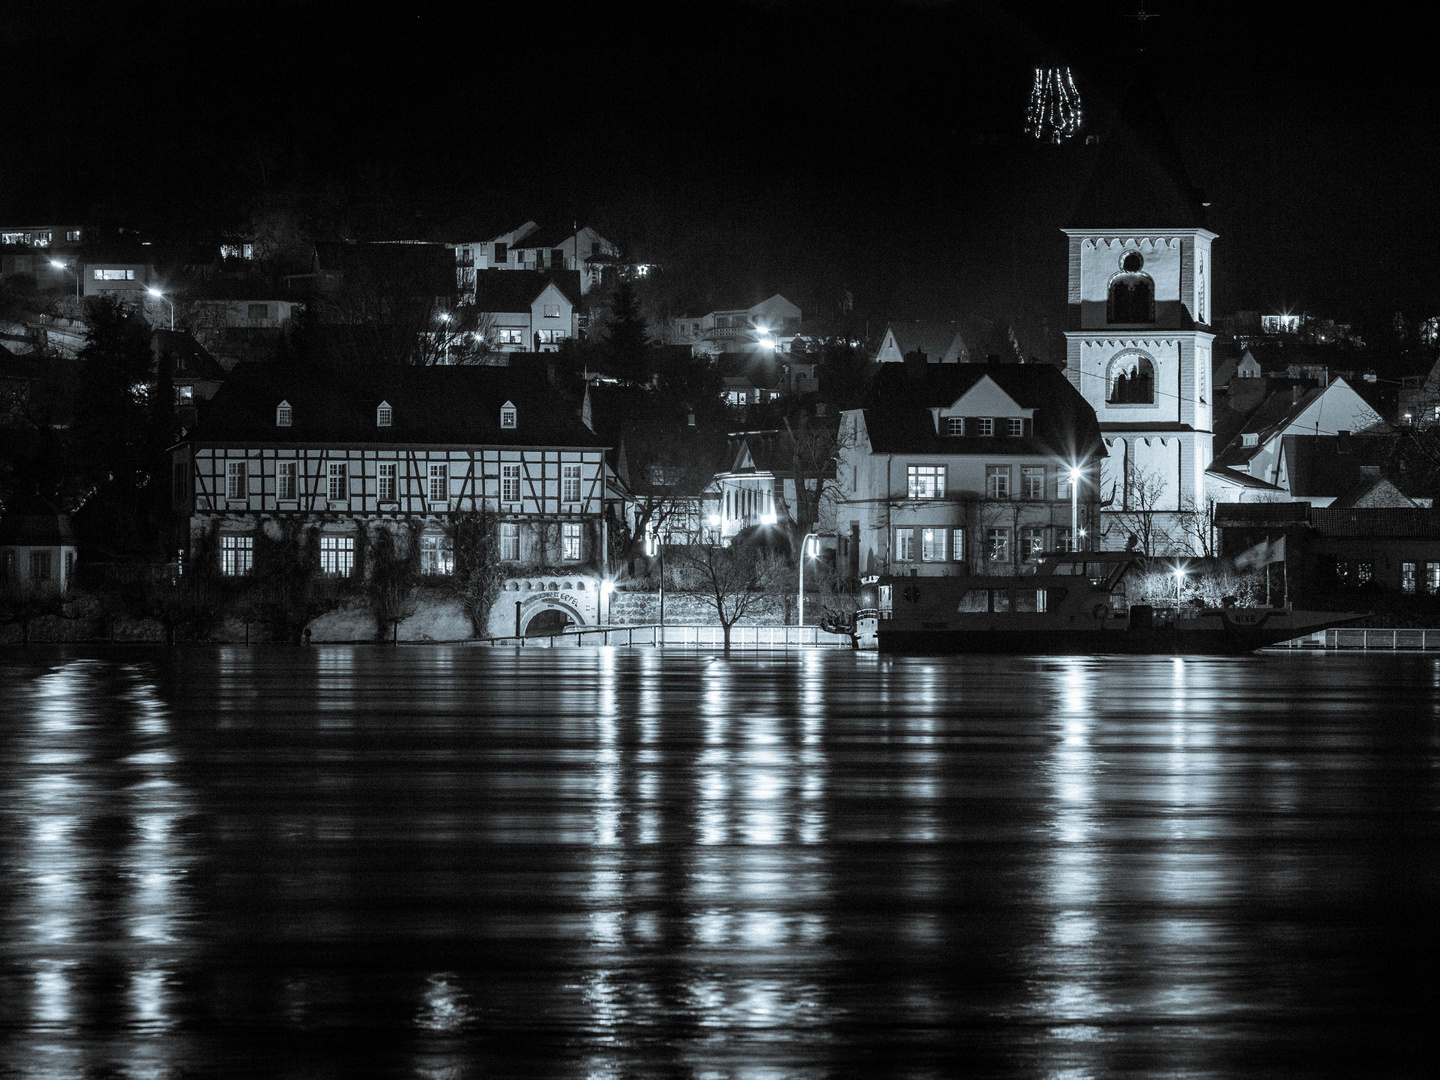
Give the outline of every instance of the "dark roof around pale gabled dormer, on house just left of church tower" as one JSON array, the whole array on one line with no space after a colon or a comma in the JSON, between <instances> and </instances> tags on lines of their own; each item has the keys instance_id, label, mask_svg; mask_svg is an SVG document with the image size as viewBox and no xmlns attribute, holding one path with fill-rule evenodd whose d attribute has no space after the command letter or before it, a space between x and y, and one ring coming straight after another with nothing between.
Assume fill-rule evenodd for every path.
<instances>
[{"instance_id":1,"label":"dark roof around pale gabled dormer, on house just left of church tower","mask_svg":"<svg viewBox=\"0 0 1440 1080\"><path fill-rule=\"evenodd\" d=\"M1047 454L1067 461L1106 456L1094 409L1050 364L878 364L865 399L877 454ZM1025 438L939 435L932 408L953 405L985 377L1022 409L1035 410Z\"/></svg>"}]
</instances>

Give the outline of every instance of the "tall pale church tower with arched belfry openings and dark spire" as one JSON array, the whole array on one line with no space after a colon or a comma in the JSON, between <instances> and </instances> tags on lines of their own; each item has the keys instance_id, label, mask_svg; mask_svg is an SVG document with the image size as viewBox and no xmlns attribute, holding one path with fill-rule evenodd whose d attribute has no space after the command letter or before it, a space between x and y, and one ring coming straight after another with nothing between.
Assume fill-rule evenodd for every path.
<instances>
[{"instance_id":1,"label":"tall pale church tower with arched belfry openings and dark spire","mask_svg":"<svg viewBox=\"0 0 1440 1080\"><path fill-rule=\"evenodd\" d=\"M1187 517L1204 505L1214 456L1215 233L1143 75L1094 153L1064 233L1066 376L1094 408L1109 452L1097 546L1125 547L1136 521L1151 520L1155 553L1188 550Z\"/></svg>"}]
</instances>

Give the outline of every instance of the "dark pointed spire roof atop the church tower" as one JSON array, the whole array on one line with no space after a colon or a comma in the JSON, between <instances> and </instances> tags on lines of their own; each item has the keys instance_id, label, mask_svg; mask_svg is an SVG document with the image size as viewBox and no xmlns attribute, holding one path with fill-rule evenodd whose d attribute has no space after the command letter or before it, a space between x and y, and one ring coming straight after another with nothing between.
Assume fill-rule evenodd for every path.
<instances>
[{"instance_id":1,"label":"dark pointed spire roof atop the church tower","mask_svg":"<svg viewBox=\"0 0 1440 1080\"><path fill-rule=\"evenodd\" d=\"M1120 101L1110 131L1100 135L1070 225L1076 229L1204 228L1202 197L1189 181L1175 135L1140 68Z\"/></svg>"}]
</instances>

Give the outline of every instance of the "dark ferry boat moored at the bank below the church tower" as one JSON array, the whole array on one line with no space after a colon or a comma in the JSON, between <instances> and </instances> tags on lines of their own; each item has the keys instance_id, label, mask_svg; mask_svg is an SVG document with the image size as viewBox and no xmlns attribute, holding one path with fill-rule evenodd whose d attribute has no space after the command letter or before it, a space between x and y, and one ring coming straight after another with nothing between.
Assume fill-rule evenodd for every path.
<instances>
[{"instance_id":1,"label":"dark ferry boat moored at the bank below the church tower","mask_svg":"<svg viewBox=\"0 0 1440 1080\"><path fill-rule=\"evenodd\" d=\"M1364 612L1178 609L1126 602L1133 552L1035 556L1018 575L881 577L881 652L1234 655L1344 626Z\"/></svg>"}]
</instances>

